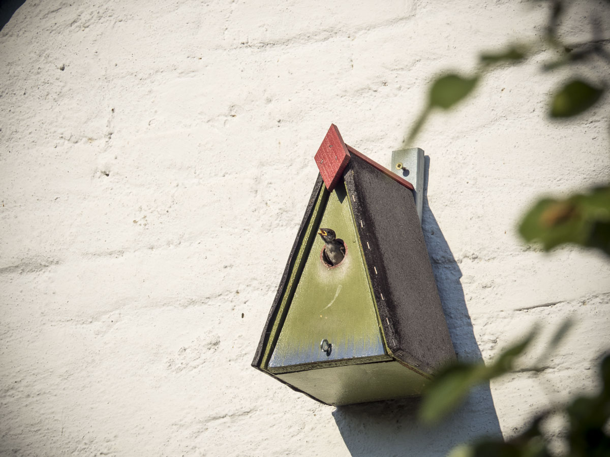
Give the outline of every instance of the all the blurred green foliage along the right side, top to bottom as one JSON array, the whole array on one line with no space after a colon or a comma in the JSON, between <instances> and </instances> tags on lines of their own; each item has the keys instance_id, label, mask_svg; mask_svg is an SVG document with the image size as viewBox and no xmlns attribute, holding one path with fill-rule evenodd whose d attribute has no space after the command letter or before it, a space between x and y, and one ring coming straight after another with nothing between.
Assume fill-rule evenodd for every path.
<instances>
[{"instance_id":1,"label":"all the blurred green foliage along the right side, top to bottom","mask_svg":"<svg viewBox=\"0 0 610 457\"><path fill-rule=\"evenodd\" d=\"M410 147L435 109L454 108L475 93L476 85L497 66L532 62L534 55L548 48L559 57L543 63L542 69L547 72L558 68L578 69L579 65L586 65L595 59L610 64L610 53L606 50L610 37L600 37L600 31L603 31L601 21L608 21L610 17L598 18L595 15L595 8L600 3L587 3L590 14L581 16L589 18L594 36L586 43L576 44L563 43L557 34L571 2L547 0L542 3L549 7L549 19L542 40L509 44L502 51L483 53L479 55L478 67L469 76L446 72L432 80L427 104L408 132L403 148ZM606 3L610 3L610 0L606 0ZM609 79L610 71L597 82L573 76L550 96L548 116L565 122L583 115L604 101ZM536 88L533 85L532 90ZM540 199L525 214L519 232L525 241L539 243L544 250L573 243L600 249L610 255L610 185L564 199ZM569 327L569 322L566 322L556 331L536 364L550 355ZM445 367L426 389L420 406L420 419L428 424L438 422L461 405L471 389L514 371L536 333L534 329L523 341L501 352L488 365L482 362L457 362ZM529 370L539 368L534 366ZM452 450L450 457L610 457L610 355L603 358L600 374L602 389L599 394L579 396L567 405L547 409L529 420L529 425L507 441L488 438L460 445ZM560 438L564 438L563 450L550 446L543 430L545 422L557 416L567 418L565 432L559 434Z\"/></svg>"}]
</instances>

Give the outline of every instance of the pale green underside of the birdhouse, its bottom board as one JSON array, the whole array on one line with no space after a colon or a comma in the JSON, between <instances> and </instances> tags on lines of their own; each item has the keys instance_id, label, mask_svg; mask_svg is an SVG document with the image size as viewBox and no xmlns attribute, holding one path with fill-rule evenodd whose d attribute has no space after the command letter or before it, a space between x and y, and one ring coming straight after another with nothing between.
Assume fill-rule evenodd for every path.
<instances>
[{"instance_id":1,"label":"pale green underside of the birdhouse, its bottom board","mask_svg":"<svg viewBox=\"0 0 610 457\"><path fill-rule=\"evenodd\" d=\"M428 380L397 361L352 364L276 375L329 405L419 395Z\"/></svg>"}]
</instances>

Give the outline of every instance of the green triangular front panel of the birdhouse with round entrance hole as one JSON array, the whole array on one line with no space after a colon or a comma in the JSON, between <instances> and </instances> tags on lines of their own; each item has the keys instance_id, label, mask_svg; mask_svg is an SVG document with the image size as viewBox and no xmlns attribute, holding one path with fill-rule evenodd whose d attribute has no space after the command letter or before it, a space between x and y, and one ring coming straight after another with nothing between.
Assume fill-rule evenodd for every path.
<instances>
[{"instance_id":1,"label":"green triangular front panel of the birdhouse with round entrance hole","mask_svg":"<svg viewBox=\"0 0 610 457\"><path fill-rule=\"evenodd\" d=\"M345 259L335 267L326 266L320 258L324 242L316 235L318 227L310 227L315 240L306 253L303 272L271 354L267 366L270 372L292 371L312 363L390 359L382 343L345 187L337 186L326 207L319 210L324 213L318 227L332 228L337 238L345 241ZM322 339L331 343L330 354L320 349Z\"/></svg>"}]
</instances>

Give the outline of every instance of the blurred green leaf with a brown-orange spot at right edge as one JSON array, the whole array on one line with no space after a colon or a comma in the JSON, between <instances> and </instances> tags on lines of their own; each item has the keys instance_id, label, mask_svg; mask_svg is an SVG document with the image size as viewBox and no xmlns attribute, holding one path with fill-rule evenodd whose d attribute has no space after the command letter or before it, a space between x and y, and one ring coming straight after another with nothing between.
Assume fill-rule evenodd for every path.
<instances>
[{"instance_id":1,"label":"blurred green leaf with a brown-orange spot at right edge","mask_svg":"<svg viewBox=\"0 0 610 457\"><path fill-rule=\"evenodd\" d=\"M574 243L610 255L610 186L563 200L540 200L526 213L519 232L544 250Z\"/></svg>"}]
</instances>

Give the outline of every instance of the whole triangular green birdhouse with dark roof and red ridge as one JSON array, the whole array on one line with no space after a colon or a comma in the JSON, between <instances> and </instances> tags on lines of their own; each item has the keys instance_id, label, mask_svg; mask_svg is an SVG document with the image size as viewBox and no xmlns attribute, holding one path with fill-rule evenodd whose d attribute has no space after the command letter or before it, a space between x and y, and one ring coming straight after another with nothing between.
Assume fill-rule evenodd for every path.
<instances>
[{"instance_id":1,"label":"whole triangular green birdhouse with dark roof and red ridge","mask_svg":"<svg viewBox=\"0 0 610 457\"><path fill-rule=\"evenodd\" d=\"M334 124L315 161L252 365L328 405L418 395L455 353L413 186L346 145Z\"/></svg>"}]
</instances>

